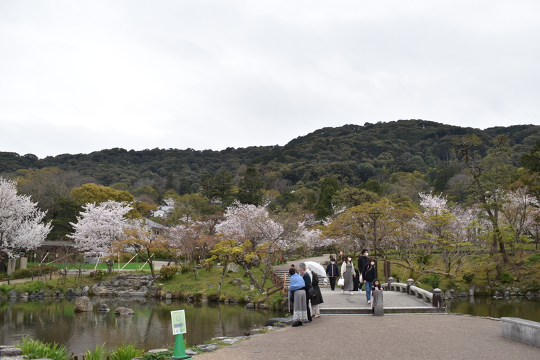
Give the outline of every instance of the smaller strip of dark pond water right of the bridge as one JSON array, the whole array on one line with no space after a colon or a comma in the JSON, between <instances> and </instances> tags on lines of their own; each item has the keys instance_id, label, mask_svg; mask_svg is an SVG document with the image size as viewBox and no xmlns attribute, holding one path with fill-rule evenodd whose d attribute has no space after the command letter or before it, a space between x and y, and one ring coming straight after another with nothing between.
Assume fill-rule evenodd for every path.
<instances>
[{"instance_id":1,"label":"smaller strip of dark pond water right of the bridge","mask_svg":"<svg viewBox=\"0 0 540 360\"><path fill-rule=\"evenodd\" d=\"M464 313L474 316L490 316L491 318L522 318L540 322L539 297L464 297L448 300L445 306L452 313Z\"/></svg>"}]
</instances>

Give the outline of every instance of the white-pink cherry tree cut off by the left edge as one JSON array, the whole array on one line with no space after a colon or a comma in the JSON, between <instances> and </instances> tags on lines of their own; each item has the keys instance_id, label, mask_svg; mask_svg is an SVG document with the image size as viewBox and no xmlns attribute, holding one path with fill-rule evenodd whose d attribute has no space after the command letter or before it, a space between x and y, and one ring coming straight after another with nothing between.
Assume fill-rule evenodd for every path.
<instances>
[{"instance_id":1,"label":"white-pink cherry tree cut off by the left edge","mask_svg":"<svg viewBox=\"0 0 540 360\"><path fill-rule=\"evenodd\" d=\"M17 195L13 181L0 177L0 271L6 259L18 257L43 243L50 224L42 222L45 213L30 197Z\"/></svg>"}]
</instances>

